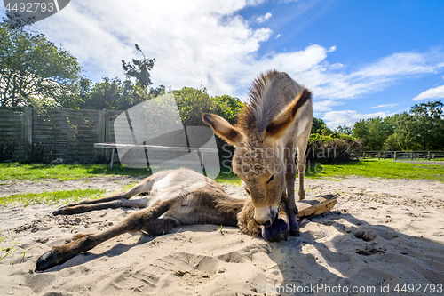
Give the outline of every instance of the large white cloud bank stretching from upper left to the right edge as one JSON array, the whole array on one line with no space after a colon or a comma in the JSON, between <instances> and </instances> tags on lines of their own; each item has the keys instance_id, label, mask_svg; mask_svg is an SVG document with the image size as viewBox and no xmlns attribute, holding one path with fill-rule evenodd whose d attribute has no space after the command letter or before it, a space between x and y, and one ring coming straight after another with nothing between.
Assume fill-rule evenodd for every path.
<instances>
[{"instance_id":1,"label":"large white cloud bank stretching from upper left to the right edge","mask_svg":"<svg viewBox=\"0 0 444 296\"><path fill-rule=\"evenodd\" d=\"M72 1L61 12L36 23L49 40L64 44L94 81L123 77L121 60L139 59L134 44L155 57L155 85L172 89L207 87L210 94L230 94L241 99L260 72L286 71L314 93L314 98L338 100L377 92L397 79L433 73L444 67L438 52L400 52L351 69L340 62L329 64L329 52L311 44L293 52L258 55L270 39L270 28L253 29L238 13L263 0ZM267 13L268 19L271 13ZM280 36L277 35L276 38ZM324 102L328 111L335 103ZM321 106L321 103L320 103Z\"/></svg>"}]
</instances>

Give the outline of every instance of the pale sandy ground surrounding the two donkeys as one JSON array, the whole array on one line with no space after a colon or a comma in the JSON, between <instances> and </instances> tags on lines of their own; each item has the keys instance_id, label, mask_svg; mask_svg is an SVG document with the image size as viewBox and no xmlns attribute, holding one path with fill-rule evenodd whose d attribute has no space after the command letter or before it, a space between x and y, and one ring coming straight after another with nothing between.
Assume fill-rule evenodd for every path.
<instances>
[{"instance_id":1,"label":"pale sandy ground surrounding the two donkeys","mask_svg":"<svg viewBox=\"0 0 444 296\"><path fill-rule=\"evenodd\" d=\"M68 188L111 193L136 180L17 181L0 186L0 196ZM118 236L41 273L36 260L52 245L135 210L53 217L56 206L2 207L0 247L17 251L0 261L0 295L392 295L403 287L444 294L443 183L345 178L305 180L305 186L307 198L337 194L338 204L302 220L301 236L285 242L267 243L237 228L186 226L158 237ZM240 187L225 188L244 197Z\"/></svg>"}]
</instances>

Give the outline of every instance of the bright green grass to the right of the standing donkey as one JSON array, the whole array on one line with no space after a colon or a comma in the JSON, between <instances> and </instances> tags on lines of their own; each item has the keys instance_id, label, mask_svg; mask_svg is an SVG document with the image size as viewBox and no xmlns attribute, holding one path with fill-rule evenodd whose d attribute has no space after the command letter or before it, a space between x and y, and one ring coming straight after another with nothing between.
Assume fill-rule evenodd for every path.
<instances>
[{"instance_id":1,"label":"bright green grass to the right of the standing donkey","mask_svg":"<svg viewBox=\"0 0 444 296\"><path fill-rule=\"evenodd\" d=\"M368 178L388 179L432 179L444 181L444 165L440 164L410 164L395 162L392 159L366 159L345 164L324 165L323 172L314 172L313 166L307 167L308 178L363 176ZM309 172L312 169L312 172ZM321 167L318 166L321 170Z\"/></svg>"}]
</instances>

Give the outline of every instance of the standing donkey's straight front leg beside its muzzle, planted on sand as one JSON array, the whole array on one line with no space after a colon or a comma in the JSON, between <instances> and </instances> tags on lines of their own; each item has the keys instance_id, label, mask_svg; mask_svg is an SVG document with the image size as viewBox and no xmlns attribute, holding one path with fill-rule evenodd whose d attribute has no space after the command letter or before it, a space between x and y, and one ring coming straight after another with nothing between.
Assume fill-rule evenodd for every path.
<instances>
[{"instance_id":1,"label":"standing donkey's straight front leg beside its muzzle, planted on sand","mask_svg":"<svg viewBox=\"0 0 444 296\"><path fill-rule=\"evenodd\" d=\"M289 235L299 236L299 226L297 225L297 206L295 202L295 180L297 176L295 164L294 144L289 144L285 148L286 172L285 181L287 183L287 196L282 198L286 200L289 218Z\"/></svg>"}]
</instances>

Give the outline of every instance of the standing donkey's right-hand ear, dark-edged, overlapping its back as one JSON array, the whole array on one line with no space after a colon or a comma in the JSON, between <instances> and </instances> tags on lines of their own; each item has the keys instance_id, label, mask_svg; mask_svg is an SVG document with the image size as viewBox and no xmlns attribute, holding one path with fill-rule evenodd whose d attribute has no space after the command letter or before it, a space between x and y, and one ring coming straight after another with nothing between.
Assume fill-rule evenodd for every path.
<instances>
[{"instance_id":1,"label":"standing donkey's right-hand ear, dark-edged, overlapping its back","mask_svg":"<svg viewBox=\"0 0 444 296\"><path fill-rule=\"evenodd\" d=\"M271 138L280 138L287 130L289 124L297 117L297 111L300 110L305 103L312 99L312 92L306 88L293 100L283 111L266 127L266 136Z\"/></svg>"}]
</instances>

